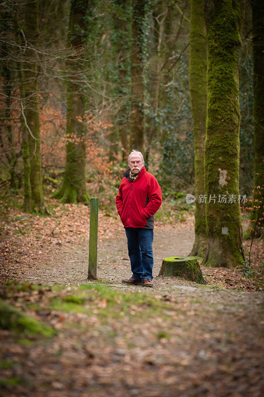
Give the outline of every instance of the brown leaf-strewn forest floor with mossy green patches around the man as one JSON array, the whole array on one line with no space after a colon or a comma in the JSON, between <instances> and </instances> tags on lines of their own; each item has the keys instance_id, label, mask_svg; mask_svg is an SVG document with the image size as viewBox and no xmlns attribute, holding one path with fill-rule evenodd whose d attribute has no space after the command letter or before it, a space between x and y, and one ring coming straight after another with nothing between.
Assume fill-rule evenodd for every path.
<instances>
[{"instance_id":1,"label":"brown leaf-strewn forest floor with mossy green patches around the man","mask_svg":"<svg viewBox=\"0 0 264 397\"><path fill-rule=\"evenodd\" d=\"M131 272L117 218L99 213L88 281L89 208L54 201L41 217L6 203L0 215L0 297L56 331L0 330L1 396L262 396L261 242L244 274L201 267L198 285L157 277L165 257L190 253L193 215L156 222L154 288L144 288L121 283Z\"/></svg>"}]
</instances>

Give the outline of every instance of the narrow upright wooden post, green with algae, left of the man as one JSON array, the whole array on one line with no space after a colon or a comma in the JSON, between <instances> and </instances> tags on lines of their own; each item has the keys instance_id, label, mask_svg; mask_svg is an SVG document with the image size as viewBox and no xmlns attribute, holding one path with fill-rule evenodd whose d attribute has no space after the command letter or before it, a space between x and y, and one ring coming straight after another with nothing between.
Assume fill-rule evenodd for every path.
<instances>
[{"instance_id":1,"label":"narrow upright wooden post, green with algae, left of the man","mask_svg":"<svg viewBox=\"0 0 264 397\"><path fill-rule=\"evenodd\" d=\"M98 235L98 199L90 200L90 237L89 237L89 266L88 279L96 280L97 270L97 235Z\"/></svg>"}]
</instances>

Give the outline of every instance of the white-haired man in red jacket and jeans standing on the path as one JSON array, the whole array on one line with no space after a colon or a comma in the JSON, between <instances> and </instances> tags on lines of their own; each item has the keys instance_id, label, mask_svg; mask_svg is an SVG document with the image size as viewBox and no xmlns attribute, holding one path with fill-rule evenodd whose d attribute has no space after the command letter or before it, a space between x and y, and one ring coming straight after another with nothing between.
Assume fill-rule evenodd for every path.
<instances>
[{"instance_id":1,"label":"white-haired man in red jacket and jeans standing on the path","mask_svg":"<svg viewBox=\"0 0 264 397\"><path fill-rule=\"evenodd\" d=\"M126 284L153 287L154 214L159 209L161 189L156 178L146 171L142 154L132 150L129 169L124 173L116 197L117 211L126 230L132 277Z\"/></svg>"}]
</instances>

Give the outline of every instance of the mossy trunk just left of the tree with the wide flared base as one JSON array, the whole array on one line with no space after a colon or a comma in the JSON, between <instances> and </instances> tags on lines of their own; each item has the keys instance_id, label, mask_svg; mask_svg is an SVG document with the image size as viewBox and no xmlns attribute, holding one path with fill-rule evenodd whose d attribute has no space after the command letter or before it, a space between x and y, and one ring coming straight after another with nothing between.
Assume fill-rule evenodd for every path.
<instances>
[{"instance_id":1,"label":"mossy trunk just left of the tree with the wide flared base","mask_svg":"<svg viewBox=\"0 0 264 397\"><path fill-rule=\"evenodd\" d=\"M42 170L40 156L40 125L38 109L38 71L34 47L39 37L38 1L27 0L25 4L24 34L27 43L25 62L23 64L23 95L25 108L23 118L28 132L28 148L30 153L30 185L32 209L44 212L42 193ZM24 141L25 142L25 141ZM23 147L23 156L27 157L27 148ZM26 154L25 154L26 151ZM27 168L28 169L28 168Z\"/></svg>"}]
</instances>

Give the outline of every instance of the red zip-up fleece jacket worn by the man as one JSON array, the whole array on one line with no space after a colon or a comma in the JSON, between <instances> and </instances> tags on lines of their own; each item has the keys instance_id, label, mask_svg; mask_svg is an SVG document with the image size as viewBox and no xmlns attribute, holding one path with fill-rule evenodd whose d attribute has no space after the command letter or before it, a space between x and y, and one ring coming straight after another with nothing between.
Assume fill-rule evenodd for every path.
<instances>
[{"instance_id":1,"label":"red zip-up fleece jacket worn by the man","mask_svg":"<svg viewBox=\"0 0 264 397\"><path fill-rule=\"evenodd\" d=\"M117 211L124 227L154 228L154 213L159 209L161 189L154 175L142 167L135 181L130 169L124 174L116 197Z\"/></svg>"}]
</instances>

